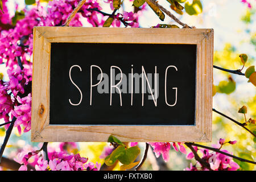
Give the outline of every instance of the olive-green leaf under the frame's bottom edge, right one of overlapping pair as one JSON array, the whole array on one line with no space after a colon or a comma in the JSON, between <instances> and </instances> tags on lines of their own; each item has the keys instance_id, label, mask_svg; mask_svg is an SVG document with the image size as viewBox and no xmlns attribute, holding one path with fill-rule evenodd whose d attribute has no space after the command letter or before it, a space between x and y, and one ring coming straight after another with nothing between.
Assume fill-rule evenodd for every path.
<instances>
[{"instance_id":1,"label":"olive-green leaf under the frame's bottom edge, right one of overlapping pair","mask_svg":"<svg viewBox=\"0 0 256 182\"><path fill-rule=\"evenodd\" d=\"M141 149L139 149L138 146L125 148L124 154L119 155L118 160L122 164L131 164L134 162L134 160L137 158L139 153L141 152Z\"/></svg>"}]
</instances>

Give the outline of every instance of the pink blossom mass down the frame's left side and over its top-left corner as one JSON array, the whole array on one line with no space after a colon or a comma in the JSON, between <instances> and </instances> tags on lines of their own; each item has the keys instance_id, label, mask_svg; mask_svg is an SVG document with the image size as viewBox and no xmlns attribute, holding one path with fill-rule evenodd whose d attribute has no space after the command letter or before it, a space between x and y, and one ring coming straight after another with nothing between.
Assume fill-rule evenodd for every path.
<instances>
[{"instance_id":1,"label":"pink blossom mass down the frame's left side and over its top-left corner","mask_svg":"<svg viewBox=\"0 0 256 182\"><path fill-rule=\"evenodd\" d=\"M6 1L3 1L3 9L7 15ZM25 16L16 22L14 28L1 30L0 33L0 64L6 63L8 81L0 82L0 118L9 122L16 117L14 126L19 133L27 132L31 128L31 81L32 81L32 32L34 26L59 26L71 14L79 0L53 0L44 9L38 2L36 7L24 9ZM96 0L86 1L83 6L87 8L101 9ZM18 7L16 7L18 9ZM86 18L92 18L90 13L81 11ZM0 14L3 19L3 14ZM92 18L98 23L98 18ZM10 23L10 21L0 22ZM100 23L99 23L100 24ZM94 25L94 24L93 24ZM70 26L82 26L80 15L77 14ZM27 91L28 90L28 91ZM23 127L21 127L23 126ZM9 125L5 125L7 129Z\"/></svg>"}]
</instances>

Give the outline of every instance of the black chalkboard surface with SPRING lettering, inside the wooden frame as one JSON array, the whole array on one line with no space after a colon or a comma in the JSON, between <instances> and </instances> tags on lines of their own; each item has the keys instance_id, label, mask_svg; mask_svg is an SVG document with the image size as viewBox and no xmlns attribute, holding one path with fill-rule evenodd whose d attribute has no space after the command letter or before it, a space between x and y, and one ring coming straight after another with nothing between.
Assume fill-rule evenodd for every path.
<instances>
[{"instance_id":1,"label":"black chalkboard surface with SPRING lettering, inside the wooden frame","mask_svg":"<svg viewBox=\"0 0 256 182\"><path fill-rule=\"evenodd\" d=\"M195 125L196 49L195 44L51 43L49 125ZM156 105L148 84L142 94L142 80L147 83L142 68L151 73L152 94L155 70L158 75ZM134 78L133 86L131 72L143 76ZM110 94L121 76L121 96L117 88Z\"/></svg>"}]
</instances>

